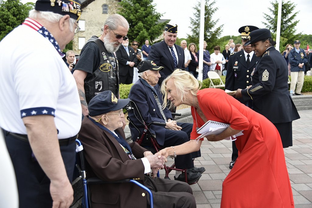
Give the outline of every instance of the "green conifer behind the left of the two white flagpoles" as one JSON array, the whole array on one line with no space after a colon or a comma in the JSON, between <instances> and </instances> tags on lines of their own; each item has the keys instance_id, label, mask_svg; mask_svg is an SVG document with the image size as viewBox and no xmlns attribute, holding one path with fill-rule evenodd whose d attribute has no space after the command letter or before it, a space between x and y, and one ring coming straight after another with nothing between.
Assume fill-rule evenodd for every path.
<instances>
[{"instance_id":1,"label":"green conifer behind the left of the two white flagpoles","mask_svg":"<svg viewBox=\"0 0 312 208\"><path fill-rule=\"evenodd\" d=\"M218 26L219 19L212 20L212 15L217 11L218 8L213 7L216 3L215 0L205 0L205 22L204 22L204 40L207 42L207 49L211 50L216 45L219 35L221 34L222 27ZM194 18L191 18L191 29L192 34L188 34L188 40L195 44L199 43L199 29L200 29L200 2L197 3L194 9Z\"/></svg>"}]
</instances>

